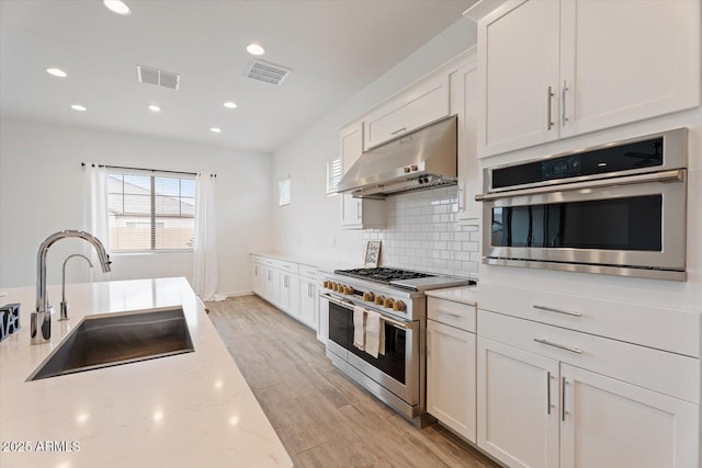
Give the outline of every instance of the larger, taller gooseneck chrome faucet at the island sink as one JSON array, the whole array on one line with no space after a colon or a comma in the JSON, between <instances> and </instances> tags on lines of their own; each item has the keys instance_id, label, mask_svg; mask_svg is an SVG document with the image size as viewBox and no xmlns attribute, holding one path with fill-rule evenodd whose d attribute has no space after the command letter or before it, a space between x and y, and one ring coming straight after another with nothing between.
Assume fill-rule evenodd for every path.
<instances>
[{"instance_id":1,"label":"larger, taller gooseneck chrome faucet at the island sink","mask_svg":"<svg viewBox=\"0 0 702 468\"><path fill-rule=\"evenodd\" d=\"M110 255L107 255L102 242L93 235L78 230L65 230L47 237L36 252L36 311L32 312L30 318L32 344L47 343L52 340L53 307L49 306L46 294L46 254L54 242L68 237L77 237L88 241L98 251L103 273L110 271L110 263L112 263Z\"/></svg>"}]
</instances>

